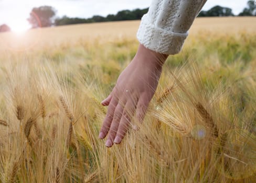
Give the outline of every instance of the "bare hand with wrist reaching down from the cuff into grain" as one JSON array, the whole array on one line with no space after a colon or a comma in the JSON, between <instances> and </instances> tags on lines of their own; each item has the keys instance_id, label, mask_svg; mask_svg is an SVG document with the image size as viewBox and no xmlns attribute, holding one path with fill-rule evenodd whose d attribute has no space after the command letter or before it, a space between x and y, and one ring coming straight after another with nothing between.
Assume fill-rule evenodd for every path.
<instances>
[{"instance_id":1,"label":"bare hand with wrist reaching down from the cuff into grain","mask_svg":"<svg viewBox=\"0 0 256 183\"><path fill-rule=\"evenodd\" d=\"M107 147L121 143L135 112L136 120L143 121L167 57L140 44L111 94L101 102L103 106L109 106L99 135L99 139L104 139L109 133L105 143Z\"/></svg>"}]
</instances>

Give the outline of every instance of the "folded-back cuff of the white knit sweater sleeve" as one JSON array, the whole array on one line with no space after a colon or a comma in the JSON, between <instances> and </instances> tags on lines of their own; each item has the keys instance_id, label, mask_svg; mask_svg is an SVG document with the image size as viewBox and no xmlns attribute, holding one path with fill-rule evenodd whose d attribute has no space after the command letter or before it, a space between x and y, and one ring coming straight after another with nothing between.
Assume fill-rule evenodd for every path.
<instances>
[{"instance_id":1,"label":"folded-back cuff of the white knit sweater sleeve","mask_svg":"<svg viewBox=\"0 0 256 183\"><path fill-rule=\"evenodd\" d=\"M137 39L144 47L168 55L179 53L187 36L188 32L175 33L156 27L148 21L147 14L137 31Z\"/></svg>"}]
</instances>

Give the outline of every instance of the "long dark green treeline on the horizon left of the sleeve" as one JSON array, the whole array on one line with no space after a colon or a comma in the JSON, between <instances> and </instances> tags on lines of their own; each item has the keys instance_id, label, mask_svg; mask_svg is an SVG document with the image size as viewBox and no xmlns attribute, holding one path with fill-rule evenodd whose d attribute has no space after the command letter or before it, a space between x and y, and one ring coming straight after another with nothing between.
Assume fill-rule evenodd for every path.
<instances>
[{"instance_id":1,"label":"long dark green treeline on the horizon left of the sleeve","mask_svg":"<svg viewBox=\"0 0 256 183\"><path fill-rule=\"evenodd\" d=\"M92 22L104 22L104 21L121 21L121 20L140 20L144 14L146 14L148 8L145 9L134 9L134 10L122 10L116 15L110 14L106 17L93 16L91 18L69 18L63 16L62 18L55 19L55 25L69 25L69 24L84 24Z\"/></svg>"}]
</instances>

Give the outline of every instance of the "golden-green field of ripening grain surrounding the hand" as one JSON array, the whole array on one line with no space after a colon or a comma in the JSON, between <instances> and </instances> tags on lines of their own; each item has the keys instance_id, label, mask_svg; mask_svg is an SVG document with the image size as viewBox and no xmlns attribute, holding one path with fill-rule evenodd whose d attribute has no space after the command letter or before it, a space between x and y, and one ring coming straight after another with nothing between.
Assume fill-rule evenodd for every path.
<instances>
[{"instance_id":1,"label":"golden-green field of ripening grain surrounding the hand","mask_svg":"<svg viewBox=\"0 0 256 183\"><path fill-rule=\"evenodd\" d=\"M139 21L0 34L0 182L254 182L256 18L197 18L144 122L106 148L100 101Z\"/></svg>"}]
</instances>

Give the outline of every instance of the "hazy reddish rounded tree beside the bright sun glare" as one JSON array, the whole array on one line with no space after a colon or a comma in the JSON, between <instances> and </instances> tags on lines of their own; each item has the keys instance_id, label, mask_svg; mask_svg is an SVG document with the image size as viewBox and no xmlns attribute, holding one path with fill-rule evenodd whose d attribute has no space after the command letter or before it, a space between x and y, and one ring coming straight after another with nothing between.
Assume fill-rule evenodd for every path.
<instances>
[{"instance_id":1,"label":"hazy reddish rounded tree beside the bright sun glare","mask_svg":"<svg viewBox=\"0 0 256 183\"><path fill-rule=\"evenodd\" d=\"M53 25L56 10L51 6L33 8L27 19L33 28L49 27Z\"/></svg>"}]
</instances>

